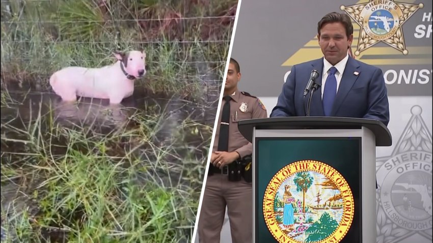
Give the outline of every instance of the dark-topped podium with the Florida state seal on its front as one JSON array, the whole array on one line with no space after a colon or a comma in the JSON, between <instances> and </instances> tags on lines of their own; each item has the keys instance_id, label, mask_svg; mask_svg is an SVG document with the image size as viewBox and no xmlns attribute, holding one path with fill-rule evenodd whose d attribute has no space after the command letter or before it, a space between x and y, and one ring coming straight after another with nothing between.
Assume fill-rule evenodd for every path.
<instances>
[{"instance_id":1,"label":"dark-topped podium with the Florida state seal on its front","mask_svg":"<svg viewBox=\"0 0 433 243\"><path fill-rule=\"evenodd\" d=\"M377 120L277 117L241 120L253 143L253 242L376 242Z\"/></svg>"}]
</instances>

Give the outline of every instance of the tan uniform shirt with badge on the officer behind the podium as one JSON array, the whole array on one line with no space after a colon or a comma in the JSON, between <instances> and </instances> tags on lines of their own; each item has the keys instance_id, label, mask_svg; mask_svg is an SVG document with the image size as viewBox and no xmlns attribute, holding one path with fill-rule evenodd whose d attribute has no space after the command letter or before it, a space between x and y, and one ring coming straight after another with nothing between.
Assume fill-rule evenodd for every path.
<instances>
[{"instance_id":1,"label":"tan uniform shirt with badge on the officer behind the podium","mask_svg":"<svg viewBox=\"0 0 433 243\"><path fill-rule=\"evenodd\" d=\"M243 158L253 153L253 144L243 137L242 134L240 134L237 128L237 122L239 120L245 119L267 118L267 112L261 101L258 98L251 97L248 95L248 93L239 92L239 90L236 90L236 92L231 95L231 98L228 151L237 151L237 153L240 155L240 158ZM218 151L221 116L224 104L226 104L226 101L223 99L212 151Z\"/></svg>"}]
</instances>

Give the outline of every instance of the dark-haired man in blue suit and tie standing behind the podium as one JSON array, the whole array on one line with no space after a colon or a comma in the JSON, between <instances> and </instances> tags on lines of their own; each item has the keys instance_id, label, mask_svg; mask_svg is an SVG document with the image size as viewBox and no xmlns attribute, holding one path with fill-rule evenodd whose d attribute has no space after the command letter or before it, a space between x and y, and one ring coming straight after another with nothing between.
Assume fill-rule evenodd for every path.
<instances>
[{"instance_id":1,"label":"dark-haired man in blue suit and tie standing behind the podium","mask_svg":"<svg viewBox=\"0 0 433 243\"><path fill-rule=\"evenodd\" d=\"M317 70L315 82L319 86L312 96L310 116L376 119L388 126L389 103L382 70L348 55L353 32L346 14L329 13L318 22L317 38L324 57L292 67L270 117L305 116L310 94L304 97L304 90L312 70Z\"/></svg>"}]
</instances>

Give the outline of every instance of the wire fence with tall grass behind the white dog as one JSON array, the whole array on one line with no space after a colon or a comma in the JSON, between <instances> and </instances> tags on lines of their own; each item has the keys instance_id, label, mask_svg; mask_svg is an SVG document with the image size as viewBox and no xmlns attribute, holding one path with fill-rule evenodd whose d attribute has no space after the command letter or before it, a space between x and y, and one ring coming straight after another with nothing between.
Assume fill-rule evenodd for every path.
<instances>
[{"instance_id":1,"label":"wire fence with tall grass behind the white dog","mask_svg":"<svg viewBox=\"0 0 433 243\"><path fill-rule=\"evenodd\" d=\"M173 9L163 9L163 14L150 17L140 11L119 14L119 6L105 13L85 9L90 11L86 15L70 14L72 5L66 9L41 7L80 1L0 0L2 87L8 80L38 82L43 86L38 90L46 92L49 77L63 67L103 67L115 62L114 50L144 48L145 78L167 80L156 86L179 90L203 85L204 102L219 99L236 6L218 15L209 15L209 7L202 11L207 15L191 16L194 13L183 10L173 14ZM95 9L101 7L92 2Z\"/></svg>"}]
</instances>

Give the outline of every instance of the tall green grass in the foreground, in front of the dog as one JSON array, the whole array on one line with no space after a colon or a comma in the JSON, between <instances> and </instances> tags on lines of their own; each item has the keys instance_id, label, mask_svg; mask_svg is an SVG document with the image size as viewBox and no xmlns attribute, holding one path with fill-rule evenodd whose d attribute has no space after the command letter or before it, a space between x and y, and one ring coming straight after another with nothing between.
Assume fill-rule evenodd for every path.
<instances>
[{"instance_id":1,"label":"tall green grass in the foreground, in front of the dog","mask_svg":"<svg viewBox=\"0 0 433 243\"><path fill-rule=\"evenodd\" d=\"M169 111L137 109L127 123L99 133L60 126L54 110L40 106L30 123L2 124L2 217L9 215L2 227L9 239L189 240L211 127L187 117L161 143L155 136ZM197 137L201 143L188 143Z\"/></svg>"}]
</instances>

